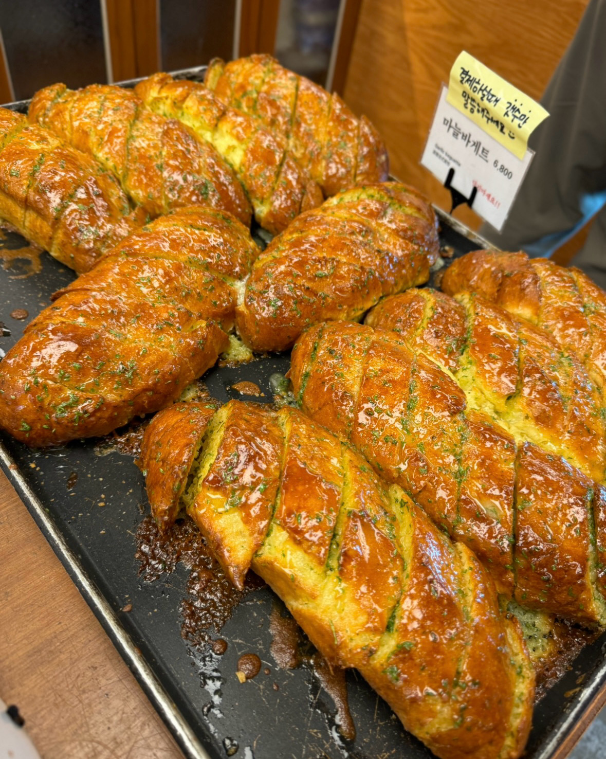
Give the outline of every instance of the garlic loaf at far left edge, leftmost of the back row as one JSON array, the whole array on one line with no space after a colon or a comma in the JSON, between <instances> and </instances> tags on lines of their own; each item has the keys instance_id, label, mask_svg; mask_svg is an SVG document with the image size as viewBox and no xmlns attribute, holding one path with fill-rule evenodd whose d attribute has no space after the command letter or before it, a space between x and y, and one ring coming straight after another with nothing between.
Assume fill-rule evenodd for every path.
<instances>
[{"instance_id":1,"label":"garlic loaf at far left edge, leftmost of the back row","mask_svg":"<svg viewBox=\"0 0 606 759\"><path fill-rule=\"evenodd\" d=\"M115 178L93 159L4 108L0 217L77 272L88 271L143 223Z\"/></svg>"}]
</instances>

